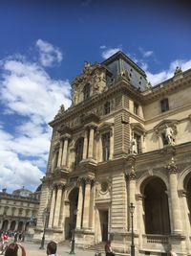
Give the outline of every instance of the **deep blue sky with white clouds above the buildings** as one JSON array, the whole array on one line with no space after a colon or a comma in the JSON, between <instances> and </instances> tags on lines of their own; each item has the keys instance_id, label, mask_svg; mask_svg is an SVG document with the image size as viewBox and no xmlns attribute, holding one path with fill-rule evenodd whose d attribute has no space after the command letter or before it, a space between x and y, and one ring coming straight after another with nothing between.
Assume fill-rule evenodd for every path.
<instances>
[{"instance_id":1,"label":"deep blue sky with white clouds above the buildings","mask_svg":"<svg viewBox=\"0 0 191 256\"><path fill-rule=\"evenodd\" d=\"M122 50L153 85L177 65L191 68L189 5L153 2L0 2L0 189L40 183L47 124L59 105L71 105L71 82L85 60L101 62Z\"/></svg>"}]
</instances>

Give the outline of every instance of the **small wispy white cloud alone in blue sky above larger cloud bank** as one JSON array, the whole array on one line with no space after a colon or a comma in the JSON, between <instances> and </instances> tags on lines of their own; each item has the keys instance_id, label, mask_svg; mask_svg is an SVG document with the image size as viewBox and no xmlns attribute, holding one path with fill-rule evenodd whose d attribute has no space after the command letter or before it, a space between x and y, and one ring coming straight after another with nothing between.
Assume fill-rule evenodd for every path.
<instances>
[{"instance_id":1,"label":"small wispy white cloud alone in blue sky above larger cloud bank","mask_svg":"<svg viewBox=\"0 0 191 256\"><path fill-rule=\"evenodd\" d=\"M40 62L43 66L50 67L53 66L53 63L59 63L62 61L61 51L57 47L54 47L53 44L42 39L38 39L36 41L36 46L38 47Z\"/></svg>"}]
</instances>

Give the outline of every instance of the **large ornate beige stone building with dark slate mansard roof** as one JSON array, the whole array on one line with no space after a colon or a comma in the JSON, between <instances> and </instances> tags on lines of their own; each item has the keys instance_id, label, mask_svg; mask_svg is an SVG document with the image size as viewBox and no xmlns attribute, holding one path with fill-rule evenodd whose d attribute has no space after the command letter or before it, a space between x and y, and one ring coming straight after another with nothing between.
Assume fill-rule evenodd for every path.
<instances>
[{"instance_id":1,"label":"large ornate beige stone building with dark slate mansard roof","mask_svg":"<svg viewBox=\"0 0 191 256\"><path fill-rule=\"evenodd\" d=\"M191 70L152 87L121 52L85 62L73 104L50 123L35 239L44 225L57 241L75 227L77 245L111 239L129 254L133 203L136 255L191 254L190 95Z\"/></svg>"}]
</instances>

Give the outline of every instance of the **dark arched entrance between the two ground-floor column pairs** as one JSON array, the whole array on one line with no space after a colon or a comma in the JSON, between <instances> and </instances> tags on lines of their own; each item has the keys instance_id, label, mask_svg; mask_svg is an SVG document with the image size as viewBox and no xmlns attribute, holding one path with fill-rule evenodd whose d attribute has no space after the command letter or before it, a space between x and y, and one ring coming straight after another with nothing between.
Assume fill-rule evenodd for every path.
<instances>
[{"instance_id":1,"label":"dark arched entrance between the two ground-floor column pairs","mask_svg":"<svg viewBox=\"0 0 191 256\"><path fill-rule=\"evenodd\" d=\"M79 189L74 188L69 195L68 218L65 219L65 237L72 239L72 232L76 224L76 210L78 202Z\"/></svg>"}]
</instances>

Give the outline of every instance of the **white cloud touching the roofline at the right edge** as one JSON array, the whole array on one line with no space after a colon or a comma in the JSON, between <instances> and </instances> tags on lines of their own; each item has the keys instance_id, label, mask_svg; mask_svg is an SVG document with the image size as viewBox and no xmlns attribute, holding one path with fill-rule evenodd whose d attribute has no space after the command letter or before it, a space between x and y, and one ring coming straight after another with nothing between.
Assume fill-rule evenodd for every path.
<instances>
[{"instance_id":1,"label":"white cloud touching the roofline at the right edge","mask_svg":"<svg viewBox=\"0 0 191 256\"><path fill-rule=\"evenodd\" d=\"M185 60L185 59L176 59L173 62L170 63L170 66L167 70L162 70L159 73L153 74L148 70L146 70L147 79L152 83L152 85L156 85L159 82L166 81L174 76L174 72L177 66L181 67L182 71L185 71L189 68L191 68L191 59Z\"/></svg>"}]
</instances>

